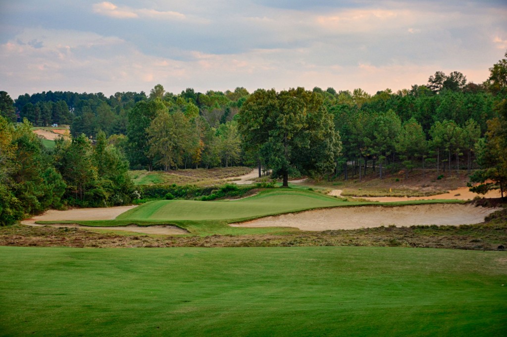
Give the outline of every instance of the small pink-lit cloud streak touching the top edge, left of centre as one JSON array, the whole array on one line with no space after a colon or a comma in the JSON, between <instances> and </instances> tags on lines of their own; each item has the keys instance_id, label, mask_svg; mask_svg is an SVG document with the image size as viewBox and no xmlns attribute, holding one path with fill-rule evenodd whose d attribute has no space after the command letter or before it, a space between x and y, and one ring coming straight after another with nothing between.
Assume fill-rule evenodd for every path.
<instances>
[{"instance_id":1,"label":"small pink-lit cloud streak touching the top edge, left of centre","mask_svg":"<svg viewBox=\"0 0 507 337\"><path fill-rule=\"evenodd\" d=\"M185 19L186 16L182 13L173 11L157 11L154 9L132 9L129 7L119 8L113 3L103 2L93 4L93 12L105 16L110 16L117 19L133 19L138 17L147 17L152 19Z\"/></svg>"}]
</instances>

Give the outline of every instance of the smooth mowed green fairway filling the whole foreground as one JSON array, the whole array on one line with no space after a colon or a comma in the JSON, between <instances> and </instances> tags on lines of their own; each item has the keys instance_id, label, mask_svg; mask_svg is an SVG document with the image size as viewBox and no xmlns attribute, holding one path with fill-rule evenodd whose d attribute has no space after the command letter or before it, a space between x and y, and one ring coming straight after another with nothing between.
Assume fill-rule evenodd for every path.
<instances>
[{"instance_id":1,"label":"smooth mowed green fairway filling the whole foreground","mask_svg":"<svg viewBox=\"0 0 507 337\"><path fill-rule=\"evenodd\" d=\"M5 336L500 336L504 252L0 247Z\"/></svg>"}]
</instances>

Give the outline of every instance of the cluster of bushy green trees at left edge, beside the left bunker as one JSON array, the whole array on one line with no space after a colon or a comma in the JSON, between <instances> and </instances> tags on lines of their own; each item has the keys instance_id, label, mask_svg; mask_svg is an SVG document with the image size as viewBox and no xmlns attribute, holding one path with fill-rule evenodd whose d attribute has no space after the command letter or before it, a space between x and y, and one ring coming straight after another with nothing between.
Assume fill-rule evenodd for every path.
<instances>
[{"instance_id":1,"label":"cluster of bushy green trees at left edge, beside the left bunker","mask_svg":"<svg viewBox=\"0 0 507 337\"><path fill-rule=\"evenodd\" d=\"M48 149L26 119L15 125L0 116L0 226L64 205L129 204L139 196L128 169L103 132L95 146L80 135Z\"/></svg>"}]
</instances>

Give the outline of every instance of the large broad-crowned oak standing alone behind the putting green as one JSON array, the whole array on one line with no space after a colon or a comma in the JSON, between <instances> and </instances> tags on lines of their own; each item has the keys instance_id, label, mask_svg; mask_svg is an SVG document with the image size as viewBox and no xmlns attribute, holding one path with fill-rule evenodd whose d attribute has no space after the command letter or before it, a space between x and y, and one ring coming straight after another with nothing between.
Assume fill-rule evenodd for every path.
<instances>
[{"instance_id":1,"label":"large broad-crowned oak standing alone behind the putting green","mask_svg":"<svg viewBox=\"0 0 507 337\"><path fill-rule=\"evenodd\" d=\"M243 104L239 131L247 151L258 151L275 176L299 171L317 175L334 168L341 151L333 116L322 97L304 88L257 90Z\"/></svg>"}]
</instances>

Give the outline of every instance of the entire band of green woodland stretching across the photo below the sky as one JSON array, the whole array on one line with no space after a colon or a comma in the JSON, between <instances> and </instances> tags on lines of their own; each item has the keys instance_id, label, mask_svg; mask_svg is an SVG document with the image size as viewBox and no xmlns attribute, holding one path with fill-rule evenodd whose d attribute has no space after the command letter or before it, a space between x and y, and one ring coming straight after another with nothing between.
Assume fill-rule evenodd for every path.
<instances>
[{"instance_id":1,"label":"entire band of green woodland stretching across the photo below the sky","mask_svg":"<svg viewBox=\"0 0 507 337\"><path fill-rule=\"evenodd\" d=\"M416 167L437 175L480 168L472 179L493 182L476 190L503 193L506 88L507 53L482 84L437 71L427 84L375 95L318 87L204 94L188 88L175 95L157 85L148 95L43 92L14 101L1 91L0 212L19 218L22 205L37 213L59 203L128 203L129 168L242 164L260 174L264 168L284 185L298 174L362 179L400 168L407 176ZM17 115L23 122L14 124ZM73 137L58 140L53 151L30 130L62 123Z\"/></svg>"}]
</instances>

